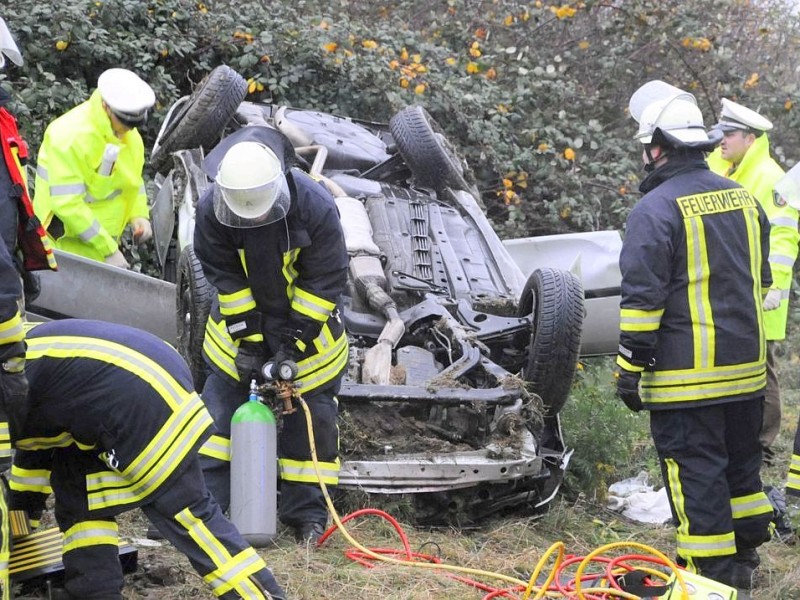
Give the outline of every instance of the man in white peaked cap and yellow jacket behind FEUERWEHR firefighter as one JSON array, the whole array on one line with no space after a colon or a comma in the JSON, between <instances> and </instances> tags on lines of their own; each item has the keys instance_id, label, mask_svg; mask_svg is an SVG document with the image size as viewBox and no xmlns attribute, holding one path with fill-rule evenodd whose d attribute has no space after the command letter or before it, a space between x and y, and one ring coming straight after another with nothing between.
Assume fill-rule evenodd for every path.
<instances>
[{"instance_id":1,"label":"man in white peaked cap and yellow jacket behind FEUERWEHR firefighter","mask_svg":"<svg viewBox=\"0 0 800 600\"><path fill-rule=\"evenodd\" d=\"M770 222L769 266L772 287L764 301L764 327L767 334L767 389L764 398L764 422L761 425L761 448L764 460L773 458L772 444L781 428L781 396L775 368L775 344L786 338L789 315L789 290L792 269L797 259L800 232L797 210L775 191L784 171L769 154L767 132L772 123L747 107L722 99L722 114L716 129L723 133L722 143L708 158L712 171L730 177L758 200Z\"/></svg>"}]
</instances>

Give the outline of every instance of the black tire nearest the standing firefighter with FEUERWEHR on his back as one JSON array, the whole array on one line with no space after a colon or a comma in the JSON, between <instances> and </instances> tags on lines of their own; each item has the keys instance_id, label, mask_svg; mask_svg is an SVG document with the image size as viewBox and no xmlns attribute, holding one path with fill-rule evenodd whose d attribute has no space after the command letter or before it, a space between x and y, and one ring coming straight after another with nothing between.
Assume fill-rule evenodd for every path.
<instances>
[{"instance_id":1,"label":"black tire nearest the standing firefighter with FEUERWEHR on his back","mask_svg":"<svg viewBox=\"0 0 800 600\"><path fill-rule=\"evenodd\" d=\"M568 271L536 269L528 277L519 316L531 315L533 327L523 378L555 417L569 398L578 365L583 329L583 286Z\"/></svg>"}]
</instances>

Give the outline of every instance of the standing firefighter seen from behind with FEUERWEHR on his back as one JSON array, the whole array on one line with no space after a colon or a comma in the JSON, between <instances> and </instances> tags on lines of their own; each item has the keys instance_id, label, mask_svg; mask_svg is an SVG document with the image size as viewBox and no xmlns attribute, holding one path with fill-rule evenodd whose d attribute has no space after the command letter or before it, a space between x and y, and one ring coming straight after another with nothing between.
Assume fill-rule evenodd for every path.
<instances>
[{"instance_id":1,"label":"standing firefighter seen from behind with FEUERWEHR on his back","mask_svg":"<svg viewBox=\"0 0 800 600\"><path fill-rule=\"evenodd\" d=\"M758 441L769 222L709 171L704 152L718 140L694 96L650 82L630 111L647 176L620 254L617 394L650 413L679 561L748 597L772 518Z\"/></svg>"}]
</instances>

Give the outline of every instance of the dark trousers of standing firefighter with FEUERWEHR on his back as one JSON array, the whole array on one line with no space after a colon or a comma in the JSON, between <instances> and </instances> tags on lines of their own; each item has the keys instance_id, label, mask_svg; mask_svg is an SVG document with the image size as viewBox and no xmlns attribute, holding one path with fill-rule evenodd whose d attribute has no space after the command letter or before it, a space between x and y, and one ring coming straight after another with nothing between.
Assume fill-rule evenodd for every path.
<instances>
[{"instance_id":1,"label":"dark trousers of standing firefighter with FEUERWEHR on his back","mask_svg":"<svg viewBox=\"0 0 800 600\"><path fill-rule=\"evenodd\" d=\"M682 562L722 583L730 583L739 553L769 539L771 510L734 518L731 507L731 498L763 493L758 440L762 402L759 398L650 412L650 429L672 515L682 527L679 531L701 538L735 534L735 549L720 549L716 555L713 549L706 556L678 550Z\"/></svg>"}]
</instances>

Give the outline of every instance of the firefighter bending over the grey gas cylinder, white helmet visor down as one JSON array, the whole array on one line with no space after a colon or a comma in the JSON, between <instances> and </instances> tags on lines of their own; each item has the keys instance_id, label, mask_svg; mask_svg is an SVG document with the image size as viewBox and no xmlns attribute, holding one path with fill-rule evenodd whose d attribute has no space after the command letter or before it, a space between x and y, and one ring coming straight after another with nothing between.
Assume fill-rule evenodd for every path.
<instances>
[{"instance_id":1,"label":"firefighter bending over the grey gas cylinder, white helmet visor down","mask_svg":"<svg viewBox=\"0 0 800 600\"><path fill-rule=\"evenodd\" d=\"M246 127L204 162L215 184L197 205L194 250L218 296L203 346L203 388L219 434L206 444L206 482L230 500L230 420L248 384L271 360L297 363L294 380L312 413L325 483L339 477L337 402L348 345L339 312L347 250L333 197L287 168L291 145L274 130ZM285 415L278 442L279 516L299 542L316 542L327 509L311 460L303 411Z\"/></svg>"}]
</instances>

